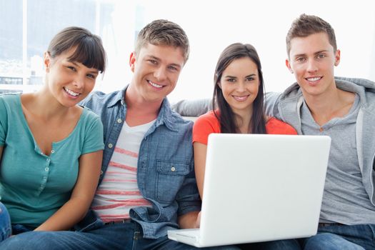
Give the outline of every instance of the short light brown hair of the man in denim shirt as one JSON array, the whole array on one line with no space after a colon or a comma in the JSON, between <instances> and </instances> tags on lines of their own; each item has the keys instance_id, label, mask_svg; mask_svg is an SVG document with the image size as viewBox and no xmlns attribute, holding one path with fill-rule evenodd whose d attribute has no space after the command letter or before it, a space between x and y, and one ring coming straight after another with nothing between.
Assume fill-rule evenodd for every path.
<instances>
[{"instance_id":1,"label":"short light brown hair of the man in denim shirt","mask_svg":"<svg viewBox=\"0 0 375 250\"><path fill-rule=\"evenodd\" d=\"M159 19L144 26L136 38L136 55L146 44L180 47L185 63L189 59L189 39L185 31L174 22Z\"/></svg>"}]
</instances>

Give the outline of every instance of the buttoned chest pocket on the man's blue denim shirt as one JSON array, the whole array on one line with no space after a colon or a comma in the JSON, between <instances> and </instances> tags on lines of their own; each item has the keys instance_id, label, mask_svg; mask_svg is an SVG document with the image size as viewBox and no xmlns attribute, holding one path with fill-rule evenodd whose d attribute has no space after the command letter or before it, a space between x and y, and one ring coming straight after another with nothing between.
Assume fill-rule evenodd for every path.
<instances>
[{"instance_id":1,"label":"buttoned chest pocket on the man's blue denim shirt","mask_svg":"<svg viewBox=\"0 0 375 250\"><path fill-rule=\"evenodd\" d=\"M189 174L189 164L184 161L156 160L156 199L170 202L176 199L176 194Z\"/></svg>"}]
</instances>

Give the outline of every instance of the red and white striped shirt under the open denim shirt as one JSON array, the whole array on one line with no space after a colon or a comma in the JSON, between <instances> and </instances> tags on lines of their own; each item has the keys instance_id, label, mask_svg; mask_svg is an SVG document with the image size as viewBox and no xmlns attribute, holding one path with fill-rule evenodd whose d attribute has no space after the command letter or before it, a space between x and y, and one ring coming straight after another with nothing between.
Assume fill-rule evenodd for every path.
<instances>
[{"instance_id":1,"label":"red and white striped shirt under the open denim shirt","mask_svg":"<svg viewBox=\"0 0 375 250\"><path fill-rule=\"evenodd\" d=\"M94 196L94 209L104 222L129 219L129 210L136 206L151 206L141 196L136 181L139 147L144 134L154 124L150 121L139 126L124 122L114 154Z\"/></svg>"}]
</instances>

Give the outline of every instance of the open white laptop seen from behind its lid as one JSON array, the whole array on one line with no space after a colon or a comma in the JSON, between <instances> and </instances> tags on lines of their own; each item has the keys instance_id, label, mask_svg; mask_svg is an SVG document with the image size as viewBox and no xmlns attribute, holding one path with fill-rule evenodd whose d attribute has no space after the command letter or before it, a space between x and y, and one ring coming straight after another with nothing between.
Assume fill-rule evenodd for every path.
<instances>
[{"instance_id":1,"label":"open white laptop seen from behind its lid","mask_svg":"<svg viewBox=\"0 0 375 250\"><path fill-rule=\"evenodd\" d=\"M316 234L331 138L210 134L200 229L169 230L197 247Z\"/></svg>"}]
</instances>

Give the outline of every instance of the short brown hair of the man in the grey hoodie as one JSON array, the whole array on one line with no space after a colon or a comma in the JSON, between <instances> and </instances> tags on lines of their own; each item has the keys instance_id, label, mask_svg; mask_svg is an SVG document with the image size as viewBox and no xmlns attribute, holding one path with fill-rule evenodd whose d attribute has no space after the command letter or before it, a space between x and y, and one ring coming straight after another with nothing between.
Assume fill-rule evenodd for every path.
<instances>
[{"instance_id":1,"label":"short brown hair of the man in the grey hoodie","mask_svg":"<svg viewBox=\"0 0 375 250\"><path fill-rule=\"evenodd\" d=\"M334 52L336 52L336 36L332 26L319 16L301 14L299 18L293 21L286 35L286 52L288 56L291 50L291 39L295 37L306 37L320 32L324 32L328 35L329 44L334 47Z\"/></svg>"}]
</instances>

